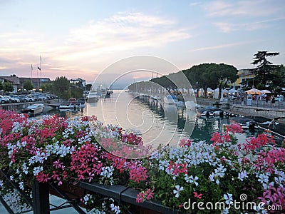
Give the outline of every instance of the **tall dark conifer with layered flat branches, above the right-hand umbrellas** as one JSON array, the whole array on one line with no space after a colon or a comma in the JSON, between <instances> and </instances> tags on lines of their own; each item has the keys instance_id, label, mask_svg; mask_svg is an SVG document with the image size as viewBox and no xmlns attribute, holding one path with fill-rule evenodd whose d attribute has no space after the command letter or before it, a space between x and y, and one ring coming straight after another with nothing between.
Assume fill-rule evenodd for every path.
<instances>
[{"instance_id":1,"label":"tall dark conifer with layered flat branches, above the right-hand umbrellas","mask_svg":"<svg viewBox=\"0 0 285 214\"><path fill-rule=\"evenodd\" d=\"M268 52L268 51L258 51L254 54L254 61L252 64L254 66L254 80L256 83L261 83L263 86L270 84L274 80L273 71L277 68L276 65L272 65L270 61L267 61L266 57L272 57L279 55L278 52Z\"/></svg>"}]
</instances>

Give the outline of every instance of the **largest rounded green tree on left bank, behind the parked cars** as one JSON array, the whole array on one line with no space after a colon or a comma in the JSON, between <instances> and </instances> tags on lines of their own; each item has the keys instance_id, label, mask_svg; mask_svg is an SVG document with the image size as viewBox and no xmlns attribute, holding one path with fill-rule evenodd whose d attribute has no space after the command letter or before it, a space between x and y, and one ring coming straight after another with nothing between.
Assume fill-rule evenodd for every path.
<instances>
[{"instance_id":1,"label":"largest rounded green tree on left bank, behind the parked cars","mask_svg":"<svg viewBox=\"0 0 285 214\"><path fill-rule=\"evenodd\" d=\"M71 84L68 81L68 78L65 76L56 77L56 80L53 81L53 92L56 95L63 99L71 98Z\"/></svg>"}]
</instances>

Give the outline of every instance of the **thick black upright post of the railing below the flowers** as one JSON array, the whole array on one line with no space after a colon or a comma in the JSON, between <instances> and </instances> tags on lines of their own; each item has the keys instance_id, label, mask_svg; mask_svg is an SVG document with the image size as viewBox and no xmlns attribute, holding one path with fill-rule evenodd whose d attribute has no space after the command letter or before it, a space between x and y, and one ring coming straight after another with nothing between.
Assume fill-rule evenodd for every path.
<instances>
[{"instance_id":1,"label":"thick black upright post of the railing below the flowers","mask_svg":"<svg viewBox=\"0 0 285 214\"><path fill-rule=\"evenodd\" d=\"M33 184L33 214L49 214L49 188L48 183Z\"/></svg>"}]
</instances>

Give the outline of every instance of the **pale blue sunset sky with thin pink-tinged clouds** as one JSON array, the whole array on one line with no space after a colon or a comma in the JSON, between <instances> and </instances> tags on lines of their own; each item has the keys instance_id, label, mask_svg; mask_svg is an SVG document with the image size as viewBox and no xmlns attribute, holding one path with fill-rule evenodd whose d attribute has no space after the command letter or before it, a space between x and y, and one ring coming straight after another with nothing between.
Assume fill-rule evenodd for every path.
<instances>
[{"instance_id":1,"label":"pale blue sunset sky with thin pink-tinged clouds","mask_svg":"<svg viewBox=\"0 0 285 214\"><path fill-rule=\"evenodd\" d=\"M0 76L109 84L134 56L161 58L179 70L212 62L242 69L253 68L257 51L269 51L279 52L269 61L284 64L284 11L284 0L0 0ZM150 77L133 72L121 81Z\"/></svg>"}]
</instances>

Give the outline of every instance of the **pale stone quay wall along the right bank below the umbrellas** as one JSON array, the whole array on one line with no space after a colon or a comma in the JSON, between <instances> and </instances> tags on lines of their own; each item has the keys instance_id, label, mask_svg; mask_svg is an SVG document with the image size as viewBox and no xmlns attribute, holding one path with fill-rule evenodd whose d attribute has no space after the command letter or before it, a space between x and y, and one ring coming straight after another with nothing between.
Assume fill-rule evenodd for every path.
<instances>
[{"instance_id":1,"label":"pale stone quay wall along the right bank below the umbrellas","mask_svg":"<svg viewBox=\"0 0 285 214\"><path fill-rule=\"evenodd\" d=\"M231 111L244 114L245 116L261 116L269 119L277 117L285 117L285 109L258 108L258 107L240 106L240 105L232 105L230 109Z\"/></svg>"}]
</instances>

